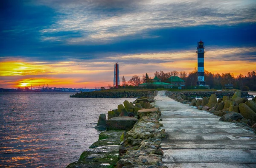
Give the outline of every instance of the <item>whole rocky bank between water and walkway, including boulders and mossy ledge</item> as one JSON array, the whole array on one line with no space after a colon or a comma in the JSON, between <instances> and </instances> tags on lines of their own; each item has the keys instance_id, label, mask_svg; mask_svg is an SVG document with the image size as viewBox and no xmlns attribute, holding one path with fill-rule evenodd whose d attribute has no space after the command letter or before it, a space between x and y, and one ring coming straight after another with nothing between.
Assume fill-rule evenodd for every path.
<instances>
[{"instance_id":1,"label":"whole rocky bank between water and walkway, including boulders and mossy ledge","mask_svg":"<svg viewBox=\"0 0 256 168\"><path fill-rule=\"evenodd\" d=\"M107 131L67 168L163 168L160 143L166 134L159 123L161 112L152 101L152 97L125 101L108 112L108 120L101 114L96 129Z\"/></svg>"}]
</instances>

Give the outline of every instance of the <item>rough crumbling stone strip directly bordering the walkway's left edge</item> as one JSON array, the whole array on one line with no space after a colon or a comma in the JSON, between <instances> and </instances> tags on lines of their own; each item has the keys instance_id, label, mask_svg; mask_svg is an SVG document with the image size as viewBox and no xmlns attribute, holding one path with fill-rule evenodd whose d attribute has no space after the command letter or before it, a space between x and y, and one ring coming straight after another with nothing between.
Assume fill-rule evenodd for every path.
<instances>
[{"instance_id":1,"label":"rough crumbling stone strip directly bordering the walkway's left edge","mask_svg":"<svg viewBox=\"0 0 256 168\"><path fill-rule=\"evenodd\" d=\"M119 149L120 160L117 168L163 168L163 150L161 139L166 137L161 129L161 112L158 108L141 109L139 120L133 129L122 136L122 146Z\"/></svg>"}]
</instances>

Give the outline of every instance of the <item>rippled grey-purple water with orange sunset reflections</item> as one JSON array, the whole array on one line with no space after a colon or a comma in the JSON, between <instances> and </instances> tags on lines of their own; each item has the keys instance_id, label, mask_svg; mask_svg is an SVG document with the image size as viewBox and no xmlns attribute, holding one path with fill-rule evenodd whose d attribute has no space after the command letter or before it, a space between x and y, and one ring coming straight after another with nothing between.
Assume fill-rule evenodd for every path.
<instances>
[{"instance_id":1,"label":"rippled grey-purple water with orange sunset reflections","mask_svg":"<svg viewBox=\"0 0 256 168\"><path fill-rule=\"evenodd\" d=\"M67 166L98 140L99 114L125 101L69 95L0 93L1 167Z\"/></svg>"}]
</instances>

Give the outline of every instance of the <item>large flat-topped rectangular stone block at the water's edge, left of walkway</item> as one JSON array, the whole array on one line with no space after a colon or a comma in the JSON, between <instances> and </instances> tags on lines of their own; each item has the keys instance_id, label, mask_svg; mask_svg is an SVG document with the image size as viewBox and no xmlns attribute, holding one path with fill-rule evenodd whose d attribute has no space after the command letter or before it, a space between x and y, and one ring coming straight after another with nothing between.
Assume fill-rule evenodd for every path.
<instances>
[{"instance_id":1,"label":"large flat-topped rectangular stone block at the water's edge, left of walkway","mask_svg":"<svg viewBox=\"0 0 256 168\"><path fill-rule=\"evenodd\" d=\"M133 128L137 119L134 117L114 117L107 120L108 130L123 129L129 131Z\"/></svg>"}]
</instances>

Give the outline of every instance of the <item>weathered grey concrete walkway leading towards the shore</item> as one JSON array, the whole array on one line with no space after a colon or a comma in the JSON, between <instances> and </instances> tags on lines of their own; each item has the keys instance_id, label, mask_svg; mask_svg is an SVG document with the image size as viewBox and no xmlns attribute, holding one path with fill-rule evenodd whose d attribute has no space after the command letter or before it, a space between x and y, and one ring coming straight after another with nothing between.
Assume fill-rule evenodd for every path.
<instances>
[{"instance_id":1,"label":"weathered grey concrete walkway leading towards the shore","mask_svg":"<svg viewBox=\"0 0 256 168\"><path fill-rule=\"evenodd\" d=\"M256 168L256 134L164 92L155 100L166 129L163 162L169 168Z\"/></svg>"}]
</instances>

